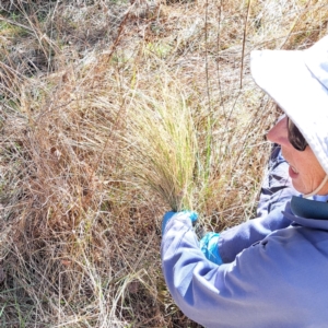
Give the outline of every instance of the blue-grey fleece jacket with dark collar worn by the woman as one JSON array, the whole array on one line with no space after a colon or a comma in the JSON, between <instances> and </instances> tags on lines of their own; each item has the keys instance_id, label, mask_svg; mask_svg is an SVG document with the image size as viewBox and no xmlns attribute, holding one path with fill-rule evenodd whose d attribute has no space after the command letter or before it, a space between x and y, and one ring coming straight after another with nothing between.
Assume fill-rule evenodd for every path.
<instances>
[{"instance_id":1,"label":"blue-grey fleece jacket with dark collar worn by the woman","mask_svg":"<svg viewBox=\"0 0 328 328\"><path fill-rule=\"evenodd\" d=\"M189 218L175 215L161 255L176 304L204 327L328 327L328 203L317 203L293 197L223 232L221 266L199 249Z\"/></svg>"}]
</instances>

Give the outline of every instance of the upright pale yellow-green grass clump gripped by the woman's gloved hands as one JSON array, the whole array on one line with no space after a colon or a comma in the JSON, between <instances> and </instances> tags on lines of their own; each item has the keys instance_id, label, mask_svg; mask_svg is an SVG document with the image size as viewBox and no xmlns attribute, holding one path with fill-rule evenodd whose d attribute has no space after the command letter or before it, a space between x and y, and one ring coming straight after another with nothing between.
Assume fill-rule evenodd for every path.
<instances>
[{"instance_id":1,"label":"upright pale yellow-green grass clump gripped by the woman's gloved hands","mask_svg":"<svg viewBox=\"0 0 328 328\"><path fill-rule=\"evenodd\" d=\"M160 98L132 94L125 136L129 169L172 210L192 209L198 144L190 108L174 83L157 81L154 90Z\"/></svg>"}]
</instances>

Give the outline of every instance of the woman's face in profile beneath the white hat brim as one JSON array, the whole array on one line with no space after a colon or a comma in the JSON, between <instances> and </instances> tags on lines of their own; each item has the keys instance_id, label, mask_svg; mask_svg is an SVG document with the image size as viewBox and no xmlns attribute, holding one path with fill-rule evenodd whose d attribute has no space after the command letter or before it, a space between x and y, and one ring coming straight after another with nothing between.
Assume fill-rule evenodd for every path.
<instances>
[{"instance_id":1,"label":"woman's face in profile beneath the white hat brim","mask_svg":"<svg viewBox=\"0 0 328 328\"><path fill-rule=\"evenodd\" d=\"M304 151L297 151L288 138L288 118L281 119L267 134L268 140L281 145L282 155L290 164L289 175L294 188L301 194L311 194L323 181L326 173L312 149L307 145ZM326 184L317 195L327 195Z\"/></svg>"}]
</instances>

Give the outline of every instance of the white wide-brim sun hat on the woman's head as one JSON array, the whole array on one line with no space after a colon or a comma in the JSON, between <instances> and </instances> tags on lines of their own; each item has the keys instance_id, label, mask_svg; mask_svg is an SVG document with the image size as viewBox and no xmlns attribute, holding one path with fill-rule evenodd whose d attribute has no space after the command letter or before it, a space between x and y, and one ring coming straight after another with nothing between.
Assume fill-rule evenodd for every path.
<instances>
[{"instance_id":1,"label":"white wide-brim sun hat on the woman's head","mask_svg":"<svg viewBox=\"0 0 328 328\"><path fill-rule=\"evenodd\" d=\"M250 70L328 174L328 36L306 50L251 51Z\"/></svg>"}]
</instances>

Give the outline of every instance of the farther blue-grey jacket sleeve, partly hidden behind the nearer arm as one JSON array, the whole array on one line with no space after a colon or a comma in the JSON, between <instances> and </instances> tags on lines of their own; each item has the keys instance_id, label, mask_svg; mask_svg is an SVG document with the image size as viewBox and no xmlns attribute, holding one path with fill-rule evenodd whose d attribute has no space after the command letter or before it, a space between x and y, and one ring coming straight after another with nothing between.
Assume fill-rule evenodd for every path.
<instances>
[{"instance_id":1,"label":"farther blue-grey jacket sleeve, partly hidden behind the nearer arm","mask_svg":"<svg viewBox=\"0 0 328 328\"><path fill-rule=\"evenodd\" d=\"M291 221L282 214L284 207L272 210L265 218L248 220L220 233L218 247L222 261L232 262L243 249L263 239L271 232L289 226Z\"/></svg>"}]
</instances>

